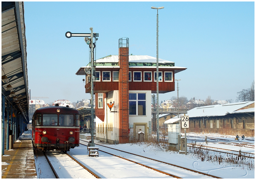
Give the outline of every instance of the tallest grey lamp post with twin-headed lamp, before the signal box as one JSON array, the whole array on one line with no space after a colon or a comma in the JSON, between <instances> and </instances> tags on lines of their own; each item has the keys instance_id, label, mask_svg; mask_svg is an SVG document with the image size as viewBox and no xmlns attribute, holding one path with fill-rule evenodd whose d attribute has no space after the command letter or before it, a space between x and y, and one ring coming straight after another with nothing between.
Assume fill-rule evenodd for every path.
<instances>
[{"instance_id":1,"label":"tallest grey lamp post with twin-headed lamp, before the signal box","mask_svg":"<svg viewBox=\"0 0 256 180\"><path fill-rule=\"evenodd\" d=\"M159 74L158 74L158 9L163 9L164 7L151 7L151 9L157 10L157 141L159 142L159 88L158 88L158 80L159 80Z\"/></svg>"}]
</instances>

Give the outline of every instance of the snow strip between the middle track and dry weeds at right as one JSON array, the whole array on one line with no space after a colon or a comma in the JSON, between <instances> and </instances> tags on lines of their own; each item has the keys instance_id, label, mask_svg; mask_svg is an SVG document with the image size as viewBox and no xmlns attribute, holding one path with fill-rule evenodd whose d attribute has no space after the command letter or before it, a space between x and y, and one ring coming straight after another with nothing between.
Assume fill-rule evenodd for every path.
<instances>
[{"instance_id":1,"label":"snow strip between the middle track and dry weeds at right","mask_svg":"<svg viewBox=\"0 0 256 180\"><path fill-rule=\"evenodd\" d=\"M233 165L218 164L218 162L202 162L193 154L178 154L173 151L161 151L152 145L138 144L118 144L106 145L123 151L128 151L141 156L150 157L171 164L183 166L189 169L209 173L222 178L254 178L254 170L247 170ZM254 161L254 159L253 159ZM191 177L193 178L193 177Z\"/></svg>"}]
</instances>

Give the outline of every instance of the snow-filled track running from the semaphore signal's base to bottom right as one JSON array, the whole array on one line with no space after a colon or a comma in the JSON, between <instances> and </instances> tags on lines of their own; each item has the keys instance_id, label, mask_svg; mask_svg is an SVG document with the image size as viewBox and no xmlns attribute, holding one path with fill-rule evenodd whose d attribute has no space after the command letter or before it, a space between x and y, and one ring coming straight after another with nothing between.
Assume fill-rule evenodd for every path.
<instances>
[{"instance_id":1,"label":"snow-filled track running from the semaphore signal's base to bottom right","mask_svg":"<svg viewBox=\"0 0 256 180\"><path fill-rule=\"evenodd\" d=\"M83 142L86 142L88 143L87 141L85 140L80 140L80 144L81 141ZM130 153L130 152L126 152L126 151L121 151L121 150L118 150L118 149L115 149L115 148L110 148L110 147L107 147L105 145L102 145L102 144L97 144L95 143L97 146L102 146L105 148L105 150L102 150L102 149L99 149L99 151L102 151L104 153L107 153L107 154L111 154L113 156L116 156L116 157L119 157L119 158L122 158L122 159L125 159L125 160L128 160L130 162L134 162L136 164L139 164L139 165L142 165L144 167L147 167L147 168L150 168L150 169L153 169L153 170L156 170L157 172L160 172L160 173L164 173L168 176L172 176L174 178L186 178L186 177L180 177L178 176L177 174L181 174L180 172L186 172L186 173L189 173L190 176L191 176L191 173L193 174L192 176L194 176L195 178L209 178L209 177L212 177L212 178L220 178L220 177L217 177L217 176L213 176L213 175L210 175L210 174L206 174L206 173L202 173L200 171L196 171L196 170L192 170L192 169L189 169L189 168L184 168L184 167L181 167L181 166L178 166L178 165L174 165L174 164L171 164L171 163L167 163L167 162L163 162L163 161L159 161L159 160L156 160L156 159L152 159L152 158L149 158L149 157L145 157L145 156L141 156L141 155L138 155L138 154L133 154L133 153ZM82 144L82 145L86 145L86 144ZM119 153L115 152L109 152L109 151L106 151L106 149L111 149L112 151L118 151ZM120 152L122 152L123 154L120 154ZM124 154L125 153L125 154ZM119 154L119 155L117 155ZM126 154L131 154L135 157L129 157L128 158L124 158L125 156L128 156ZM146 161L148 161L147 163L145 163L145 160L142 160L142 159L138 159L138 157L140 158L144 158L144 159L148 159ZM135 160L136 159L136 160ZM138 162L138 161L141 161L141 162ZM153 165L156 165L156 164L163 164L163 166L165 166L163 169L166 169L166 171L162 171L160 169L157 169L157 168L154 168ZM167 165L167 166L166 166ZM162 169L162 168L161 168ZM169 172L167 172L169 170ZM199 177L200 176L200 177Z\"/></svg>"}]
</instances>

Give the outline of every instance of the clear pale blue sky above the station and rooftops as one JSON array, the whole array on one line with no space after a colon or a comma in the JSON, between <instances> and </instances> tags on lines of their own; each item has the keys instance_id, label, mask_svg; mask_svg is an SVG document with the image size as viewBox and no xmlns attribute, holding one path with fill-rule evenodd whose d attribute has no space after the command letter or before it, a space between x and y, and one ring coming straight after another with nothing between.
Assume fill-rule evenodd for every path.
<instances>
[{"instance_id":1,"label":"clear pale blue sky above the station and rooftops","mask_svg":"<svg viewBox=\"0 0 256 180\"><path fill-rule=\"evenodd\" d=\"M99 33L96 59L118 55L118 39L129 37L129 53L156 57L159 14L159 58L187 70L176 73L179 96L233 99L254 80L254 2L24 2L27 68L31 96L46 103L89 99L84 76L88 64L83 37L65 32ZM177 96L160 94L159 101Z\"/></svg>"}]
</instances>

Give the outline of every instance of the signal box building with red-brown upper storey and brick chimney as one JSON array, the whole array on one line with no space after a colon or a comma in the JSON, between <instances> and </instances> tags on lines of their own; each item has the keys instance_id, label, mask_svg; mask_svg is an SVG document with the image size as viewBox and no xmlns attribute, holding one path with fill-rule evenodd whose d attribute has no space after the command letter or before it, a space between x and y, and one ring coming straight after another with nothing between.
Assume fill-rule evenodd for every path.
<instances>
[{"instance_id":1,"label":"signal box building with red-brown upper storey and brick chimney","mask_svg":"<svg viewBox=\"0 0 256 180\"><path fill-rule=\"evenodd\" d=\"M109 55L94 62L96 139L107 143L129 143L151 133L151 94L174 91L174 74L186 68L174 62L146 55L129 55L129 39L119 39L119 55ZM90 76L86 67L85 93L90 93ZM143 133L140 133L143 132ZM135 139L136 138L136 139ZM141 138L141 137L140 137Z\"/></svg>"}]
</instances>

